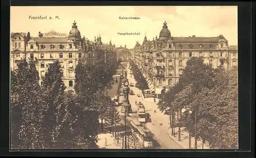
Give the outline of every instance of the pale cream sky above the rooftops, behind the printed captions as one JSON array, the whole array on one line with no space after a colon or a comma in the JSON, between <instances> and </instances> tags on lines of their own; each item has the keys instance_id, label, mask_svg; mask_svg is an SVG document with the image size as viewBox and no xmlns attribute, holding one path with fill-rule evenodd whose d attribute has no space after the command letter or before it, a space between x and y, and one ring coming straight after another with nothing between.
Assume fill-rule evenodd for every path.
<instances>
[{"instance_id":1,"label":"pale cream sky above the rooftops, behind the printed captions","mask_svg":"<svg viewBox=\"0 0 256 158\"><path fill-rule=\"evenodd\" d=\"M29 19L40 15L47 19ZM140 19L121 20L119 16ZM11 32L30 32L32 37L37 37L39 31L68 34L75 20L82 37L94 40L100 34L103 43L111 39L116 47L126 45L129 49L134 48L136 41L142 43L145 35L149 40L159 37L166 21L173 37L222 34L229 46L238 45L237 6L14 6L10 20ZM118 35L118 32L140 35Z\"/></svg>"}]
</instances>

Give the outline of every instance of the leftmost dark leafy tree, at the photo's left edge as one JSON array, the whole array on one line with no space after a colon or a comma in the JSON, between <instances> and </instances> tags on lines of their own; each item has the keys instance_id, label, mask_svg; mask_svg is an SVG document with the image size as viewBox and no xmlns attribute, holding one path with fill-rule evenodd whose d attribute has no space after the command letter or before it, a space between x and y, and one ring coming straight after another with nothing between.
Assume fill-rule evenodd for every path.
<instances>
[{"instance_id":1,"label":"leftmost dark leafy tree, at the photo's left edge","mask_svg":"<svg viewBox=\"0 0 256 158\"><path fill-rule=\"evenodd\" d=\"M11 91L11 143L16 149L44 148L42 137L44 101L35 63L22 59L13 73ZM16 135L16 136L15 136ZM16 142L17 141L17 142Z\"/></svg>"}]
</instances>

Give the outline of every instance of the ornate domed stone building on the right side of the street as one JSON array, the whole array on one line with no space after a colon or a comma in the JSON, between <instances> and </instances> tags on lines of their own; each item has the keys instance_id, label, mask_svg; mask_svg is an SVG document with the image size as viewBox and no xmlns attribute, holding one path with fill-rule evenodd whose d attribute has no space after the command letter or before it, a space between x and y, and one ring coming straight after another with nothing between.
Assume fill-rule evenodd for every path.
<instances>
[{"instance_id":1,"label":"ornate domed stone building on the right side of the street","mask_svg":"<svg viewBox=\"0 0 256 158\"><path fill-rule=\"evenodd\" d=\"M159 38L147 40L142 44L136 41L133 49L134 61L147 78L151 91L156 86L163 88L173 86L179 80L179 75L191 57L202 57L204 63L212 67L224 66L233 69L238 65L238 50L236 46L228 46L228 40L218 37L172 37L164 21Z\"/></svg>"}]
</instances>

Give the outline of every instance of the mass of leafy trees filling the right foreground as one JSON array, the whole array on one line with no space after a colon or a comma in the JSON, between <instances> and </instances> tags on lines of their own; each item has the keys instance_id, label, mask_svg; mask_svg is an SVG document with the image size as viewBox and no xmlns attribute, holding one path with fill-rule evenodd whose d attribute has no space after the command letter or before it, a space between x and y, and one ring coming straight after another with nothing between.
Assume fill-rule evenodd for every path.
<instances>
[{"instance_id":1,"label":"mass of leafy trees filling the right foreground","mask_svg":"<svg viewBox=\"0 0 256 158\"><path fill-rule=\"evenodd\" d=\"M173 135L179 127L179 140L180 128L185 127L191 137L208 141L211 148L238 147L237 70L213 69L202 58L192 57L158 105L170 116Z\"/></svg>"}]
</instances>

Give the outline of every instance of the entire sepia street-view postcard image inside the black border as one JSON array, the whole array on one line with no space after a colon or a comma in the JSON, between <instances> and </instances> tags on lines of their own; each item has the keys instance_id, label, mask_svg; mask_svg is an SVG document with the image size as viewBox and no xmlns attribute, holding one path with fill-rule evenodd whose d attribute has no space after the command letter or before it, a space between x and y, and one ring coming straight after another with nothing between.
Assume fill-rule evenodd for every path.
<instances>
[{"instance_id":1,"label":"entire sepia street-view postcard image inside the black border","mask_svg":"<svg viewBox=\"0 0 256 158\"><path fill-rule=\"evenodd\" d=\"M12 6L10 149L238 149L237 6Z\"/></svg>"}]
</instances>

